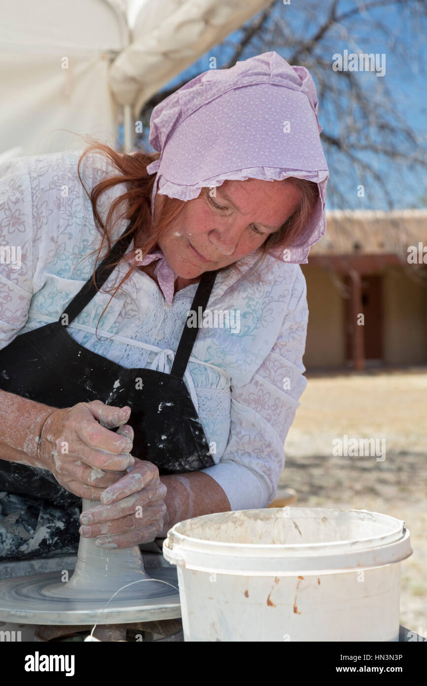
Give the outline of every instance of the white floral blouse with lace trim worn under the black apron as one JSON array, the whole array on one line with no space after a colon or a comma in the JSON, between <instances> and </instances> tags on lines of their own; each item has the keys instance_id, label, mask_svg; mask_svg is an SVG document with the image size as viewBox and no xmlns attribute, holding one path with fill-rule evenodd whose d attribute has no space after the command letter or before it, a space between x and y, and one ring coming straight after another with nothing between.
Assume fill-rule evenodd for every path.
<instances>
[{"instance_id":1,"label":"white floral blouse with lace trim worn under the black apron","mask_svg":"<svg viewBox=\"0 0 427 686\"><path fill-rule=\"evenodd\" d=\"M81 152L15 158L0 166L0 349L20 333L58 320L93 273L101 233L77 176ZM96 152L84 158L81 170L88 191L117 174ZM125 190L120 184L101 195L103 219ZM112 239L125 226L118 221ZM304 275L300 265L273 257L254 272L257 259L254 253L239 261L240 274L234 268L217 274L208 310L234 311L239 319L199 329L184 377L215 460L202 471L223 488L232 510L264 508L273 499L284 440L306 387ZM128 268L122 259L68 331L122 366L169 372L197 283L168 305L156 282L135 270L101 316L110 300L104 289Z\"/></svg>"}]
</instances>

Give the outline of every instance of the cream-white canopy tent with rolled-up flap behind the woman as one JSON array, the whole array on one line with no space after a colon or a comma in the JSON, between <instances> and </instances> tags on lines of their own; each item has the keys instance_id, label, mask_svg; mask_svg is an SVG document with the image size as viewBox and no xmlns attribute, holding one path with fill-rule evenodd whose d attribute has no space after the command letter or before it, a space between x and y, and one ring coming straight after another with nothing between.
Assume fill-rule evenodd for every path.
<instances>
[{"instance_id":1,"label":"cream-white canopy tent with rolled-up flap behind the woman","mask_svg":"<svg viewBox=\"0 0 427 686\"><path fill-rule=\"evenodd\" d=\"M272 0L13 0L0 24L0 156L132 149L141 106ZM207 65L208 67L208 65Z\"/></svg>"}]
</instances>

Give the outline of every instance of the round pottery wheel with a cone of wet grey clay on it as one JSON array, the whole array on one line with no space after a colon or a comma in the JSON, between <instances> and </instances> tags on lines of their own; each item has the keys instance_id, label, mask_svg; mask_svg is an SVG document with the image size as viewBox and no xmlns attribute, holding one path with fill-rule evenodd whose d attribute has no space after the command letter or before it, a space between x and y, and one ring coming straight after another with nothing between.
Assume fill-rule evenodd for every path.
<instances>
[{"instance_id":1,"label":"round pottery wheel with a cone of wet grey clay on it","mask_svg":"<svg viewBox=\"0 0 427 686\"><path fill-rule=\"evenodd\" d=\"M83 510L94 505L84 500ZM95 539L81 538L69 581L64 571L0 581L0 620L125 624L181 616L176 568L156 567L147 574L138 546L103 550Z\"/></svg>"}]
</instances>

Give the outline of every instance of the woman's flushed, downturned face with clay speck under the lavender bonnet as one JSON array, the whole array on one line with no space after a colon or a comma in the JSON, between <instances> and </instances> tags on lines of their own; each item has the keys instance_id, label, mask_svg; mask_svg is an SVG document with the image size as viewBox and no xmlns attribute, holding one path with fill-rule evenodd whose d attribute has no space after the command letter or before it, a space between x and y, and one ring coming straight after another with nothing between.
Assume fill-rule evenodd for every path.
<instances>
[{"instance_id":1,"label":"woman's flushed, downturned face with clay speck under the lavender bonnet","mask_svg":"<svg viewBox=\"0 0 427 686\"><path fill-rule=\"evenodd\" d=\"M156 203L162 198L157 195ZM224 181L188 200L158 246L175 274L195 279L254 252L299 203L300 191L286 180Z\"/></svg>"}]
</instances>

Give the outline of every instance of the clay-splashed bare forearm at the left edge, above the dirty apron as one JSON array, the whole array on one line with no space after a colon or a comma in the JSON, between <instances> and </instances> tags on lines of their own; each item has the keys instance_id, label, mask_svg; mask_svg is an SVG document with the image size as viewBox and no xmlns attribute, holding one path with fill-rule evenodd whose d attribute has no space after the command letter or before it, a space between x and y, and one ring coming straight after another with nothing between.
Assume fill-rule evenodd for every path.
<instances>
[{"instance_id":1,"label":"clay-splashed bare forearm at the left edge, above the dirty apron","mask_svg":"<svg viewBox=\"0 0 427 686\"><path fill-rule=\"evenodd\" d=\"M40 433L55 407L0 390L0 459L33 466Z\"/></svg>"}]
</instances>

